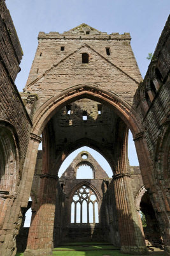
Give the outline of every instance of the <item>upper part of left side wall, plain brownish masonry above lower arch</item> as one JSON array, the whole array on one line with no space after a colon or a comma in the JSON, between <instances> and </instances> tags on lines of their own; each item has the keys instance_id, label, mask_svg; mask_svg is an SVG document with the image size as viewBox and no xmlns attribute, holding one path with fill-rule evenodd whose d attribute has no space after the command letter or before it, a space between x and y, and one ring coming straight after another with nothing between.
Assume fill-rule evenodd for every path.
<instances>
[{"instance_id":1,"label":"upper part of left side wall, plain brownish masonry above lower arch","mask_svg":"<svg viewBox=\"0 0 170 256\"><path fill-rule=\"evenodd\" d=\"M31 120L20 99L15 78L20 71L22 49L4 1L0 9L0 118L10 122L17 131L20 159L24 161L29 141Z\"/></svg>"}]
</instances>

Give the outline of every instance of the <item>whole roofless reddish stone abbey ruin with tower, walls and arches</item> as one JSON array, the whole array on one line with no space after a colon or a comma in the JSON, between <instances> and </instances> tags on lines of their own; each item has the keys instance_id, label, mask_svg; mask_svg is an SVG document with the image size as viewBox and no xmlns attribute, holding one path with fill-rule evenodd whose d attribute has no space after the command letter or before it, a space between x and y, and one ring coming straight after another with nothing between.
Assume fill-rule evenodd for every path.
<instances>
[{"instance_id":1,"label":"whole roofless reddish stone abbey ruin with tower, walls and arches","mask_svg":"<svg viewBox=\"0 0 170 256\"><path fill-rule=\"evenodd\" d=\"M0 3L0 255L50 255L64 241L109 241L135 255L152 244L170 253L170 17L144 79L129 33L108 35L87 24L40 32L19 93L22 48ZM129 165L129 129L139 166ZM112 178L87 151L58 177L66 157L83 146L108 161ZM83 164L92 179L76 179Z\"/></svg>"}]
</instances>

